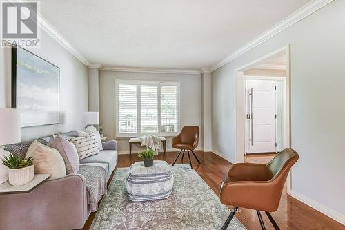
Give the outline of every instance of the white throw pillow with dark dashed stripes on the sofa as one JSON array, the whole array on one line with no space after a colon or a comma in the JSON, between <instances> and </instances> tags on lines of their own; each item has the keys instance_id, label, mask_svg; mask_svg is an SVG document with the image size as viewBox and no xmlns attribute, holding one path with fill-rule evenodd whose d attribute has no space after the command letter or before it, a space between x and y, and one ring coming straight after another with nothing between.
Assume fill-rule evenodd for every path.
<instances>
[{"instance_id":1,"label":"white throw pillow with dark dashed stripes on the sofa","mask_svg":"<svg viewBox=\"0 0 345 230\"><path fill-rule=\"evenodd\" d=\"M75 144L80 160L99 153L95 133L90 133L82 137L72 137L69 141Z\"/></svg>"}]
</instances>

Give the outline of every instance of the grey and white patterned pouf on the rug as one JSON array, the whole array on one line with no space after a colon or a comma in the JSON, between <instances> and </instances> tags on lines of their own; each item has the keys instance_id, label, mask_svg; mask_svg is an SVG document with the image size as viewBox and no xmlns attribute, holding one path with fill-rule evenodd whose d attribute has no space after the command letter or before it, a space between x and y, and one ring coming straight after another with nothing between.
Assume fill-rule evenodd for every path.
<instances>
[{"instance_id":1,"label":"grey and white patterned pouf on the rug","mask_svg":"<svg viewBox=\"0 0 345 230\"><path fill-rule=\"evenodd\" d=\"M126 179L127 194L135 202L168 198L173 184L170 167L161 160L153 161L151 167L145 167L144 162L135 162Z\"/></svg>"}]
</instances>

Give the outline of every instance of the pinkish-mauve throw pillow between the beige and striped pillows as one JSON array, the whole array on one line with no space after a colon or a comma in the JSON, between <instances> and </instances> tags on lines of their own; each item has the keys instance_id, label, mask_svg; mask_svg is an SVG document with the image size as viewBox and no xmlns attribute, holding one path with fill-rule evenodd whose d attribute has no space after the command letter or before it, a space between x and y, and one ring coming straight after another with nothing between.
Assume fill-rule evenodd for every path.
<instances>
[{"instance_id":1,"label":"pinkish-mauve throw pillow between the beige and striped pillows","mask_svg":"<svg viewBox=\"0 0 345 230\"><path fill-rule=\"evenodd\" d=\"M61 154L66 165L66 173L77 173L79 170L79 156L77 148L61 135L52 135L48 147L55 148Z\"/></svg>"}]
</instances>

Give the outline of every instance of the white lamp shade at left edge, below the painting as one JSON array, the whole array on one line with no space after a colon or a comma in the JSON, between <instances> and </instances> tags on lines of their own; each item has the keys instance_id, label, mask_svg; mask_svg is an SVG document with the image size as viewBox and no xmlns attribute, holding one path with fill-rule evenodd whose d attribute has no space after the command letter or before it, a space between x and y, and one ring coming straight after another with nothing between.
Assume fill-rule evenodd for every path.
<instances>
[{"instance_id":1,"label":"white lamp shade at left edge, below the painting","mask_svg":"<svg viewBox=\"0 0 345 230\"><path fill-rule=\"evenodd\" d=\"M21 142L19 110L0 108L0 146Z\"/></svg>"}]
</instances>

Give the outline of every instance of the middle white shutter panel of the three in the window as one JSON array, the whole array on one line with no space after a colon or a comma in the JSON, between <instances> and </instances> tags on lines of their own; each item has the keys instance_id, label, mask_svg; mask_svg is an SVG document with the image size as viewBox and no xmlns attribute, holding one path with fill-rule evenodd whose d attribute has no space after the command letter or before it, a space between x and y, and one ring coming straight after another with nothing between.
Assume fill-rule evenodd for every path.
<instances>
[{"instance_id":1,"label":"middle white shutter panel of the three in the window","mask_svg":"<svg viewBox=\"0 0 345 230\"><path fill-rule=\"evenodd\" d=\"M140 132L158 133L158 86L140 86Z\"/></svg>"}]
</instances>

